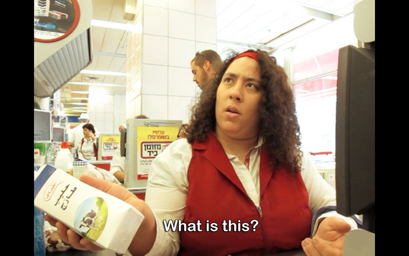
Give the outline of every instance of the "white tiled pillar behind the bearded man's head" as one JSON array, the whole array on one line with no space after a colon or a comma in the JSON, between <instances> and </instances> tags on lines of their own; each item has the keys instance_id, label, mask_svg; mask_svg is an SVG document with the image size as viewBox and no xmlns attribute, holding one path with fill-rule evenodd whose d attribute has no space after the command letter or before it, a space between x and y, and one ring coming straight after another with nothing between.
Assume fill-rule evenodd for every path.
<instances>
[{"instance_id":1,"label":"white tiled pillar behind the bearded man's head","mask_svg":"<svg viewBox=\"0 0 409 256\"><path fill-rule=\"evenodd\" d=\"M142 95L126 103L126 117L189 122L201 92L190 61L216 50L216 0L144 0L142 10Z\"/></svg>"}]
</instances>

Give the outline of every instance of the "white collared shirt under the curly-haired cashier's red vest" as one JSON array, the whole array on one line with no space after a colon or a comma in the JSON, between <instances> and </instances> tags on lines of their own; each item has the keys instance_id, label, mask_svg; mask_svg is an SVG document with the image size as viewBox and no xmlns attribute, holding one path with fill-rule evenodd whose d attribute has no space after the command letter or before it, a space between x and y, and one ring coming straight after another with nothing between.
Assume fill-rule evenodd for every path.
<instances>
[{"instance_id":1,"label":"white collared shirt under the curly-haired cashier's red vest","mask_svg":"<svg viewBox=\"0 0 409 256\"><path fill-rule=\"evenodd\" d=\"M248 168L236 156L226 154L246 193L256 206L260 205L260 150L261 141L259 140L258 145L247 153ZM184 219L189 188L187 173L191 158L192 146L186 138L182 138L172 142L152 162L145 202L155 215L156 240L147 255L176 255L179 250L179 232L171 230L165 232L163 220ZM301 176L308 191L311 215L320 207L336 204L335 189L322 178L305 156L302 157ZM357 228L352 218L346 218L335 211L327 212L322 216L340 217L346 220L353 229ZM315 233L319 220L315 223L313 233Z\"/></svg>"}]
</instances>

